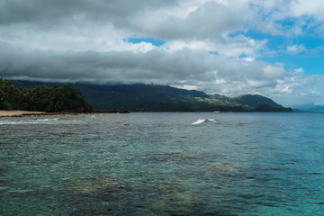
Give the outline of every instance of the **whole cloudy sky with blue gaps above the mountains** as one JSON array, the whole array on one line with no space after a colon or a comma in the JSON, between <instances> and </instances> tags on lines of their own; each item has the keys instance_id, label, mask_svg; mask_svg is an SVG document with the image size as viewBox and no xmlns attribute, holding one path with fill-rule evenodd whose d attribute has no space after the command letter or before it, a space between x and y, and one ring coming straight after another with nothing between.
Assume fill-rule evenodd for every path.
<instances>
[{"instance_id":1,"label":"whole cloudy sky with blue gaps above the mountains","mask_svg":"<svg viewBox=\"0 0 324 216\"><path fill-rule=\"evenodd\" d=\"M0 0L0 77L324 104L324 1Z\"/></svg>"}]
</instances>

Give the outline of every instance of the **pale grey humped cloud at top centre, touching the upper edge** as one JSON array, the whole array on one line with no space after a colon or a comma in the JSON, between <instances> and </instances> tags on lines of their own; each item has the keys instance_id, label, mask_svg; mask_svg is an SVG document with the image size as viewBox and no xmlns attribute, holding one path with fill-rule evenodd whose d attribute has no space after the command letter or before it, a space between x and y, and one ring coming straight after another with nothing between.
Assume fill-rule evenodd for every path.
<instances>
[{"instance_id":1,"label":"pale grey humped cloud at top centre, touching the upper edge","mask_svg":"<svg viewBox=\"0 0 324 216\"><path fill-rule=\"evenodd\" d=\"M224 4L206 2L184 18L150 11L135 19L131 25L136 26L139 33L163 40L219 39L223 33L244 26L238 16L232 15L234 12Z\"/></svg>"}]
</instances>

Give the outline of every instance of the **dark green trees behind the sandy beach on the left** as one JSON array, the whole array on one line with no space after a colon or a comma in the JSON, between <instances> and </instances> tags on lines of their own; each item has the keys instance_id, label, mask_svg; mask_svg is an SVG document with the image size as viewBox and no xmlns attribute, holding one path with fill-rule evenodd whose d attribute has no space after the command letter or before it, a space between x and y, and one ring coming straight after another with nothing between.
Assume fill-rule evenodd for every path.
<instances>
[{"instance_id":1,"label":"dark green trees behind the sandy beach on the left","mask_svg":"<svg viewBox=\"0 0 324 216\"><path fill-rule=\"evenodd\" d=\"M88 112L93 106L71 85L24 88L0 78L0 110Z\"/></svg>"}]
</instances>

